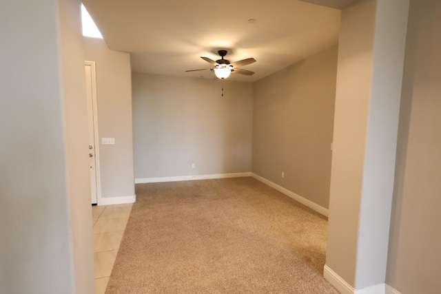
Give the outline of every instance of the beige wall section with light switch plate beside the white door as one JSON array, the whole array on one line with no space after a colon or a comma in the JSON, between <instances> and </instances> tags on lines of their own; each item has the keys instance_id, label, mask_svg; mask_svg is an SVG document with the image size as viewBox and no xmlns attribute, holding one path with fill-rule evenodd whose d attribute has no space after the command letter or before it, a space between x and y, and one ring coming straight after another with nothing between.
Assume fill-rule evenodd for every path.
<instances>
[{"instance_id":1,"label":"beige wall section with light switch plate beside the white door","mask_svg":"<svg viewBox=\"0 0 441 294\"><path fill-rule=\"evenodd\" d=\"M130 54L109 50L103 39L85 37L84 47L96 65L101 197L134 196Z\"/></svg>"}]
</instances>

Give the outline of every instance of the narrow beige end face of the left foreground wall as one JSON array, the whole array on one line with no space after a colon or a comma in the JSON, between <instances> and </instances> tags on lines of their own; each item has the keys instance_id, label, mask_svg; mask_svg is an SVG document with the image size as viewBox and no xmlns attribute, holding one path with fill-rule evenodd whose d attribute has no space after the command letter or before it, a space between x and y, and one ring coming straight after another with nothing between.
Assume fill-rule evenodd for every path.
<instances>
[{"instance_id":1,"label":"narrow beige end face of the left foreground wall","mask_svg":"<svg viewBox=\"0 0 441 294\"><path fill-rule=\"evenodd\" d=\"M75 293L94 293L88 116L81 33L81 2L59 1L59 31Z\"/></svg>"}]
</instances>

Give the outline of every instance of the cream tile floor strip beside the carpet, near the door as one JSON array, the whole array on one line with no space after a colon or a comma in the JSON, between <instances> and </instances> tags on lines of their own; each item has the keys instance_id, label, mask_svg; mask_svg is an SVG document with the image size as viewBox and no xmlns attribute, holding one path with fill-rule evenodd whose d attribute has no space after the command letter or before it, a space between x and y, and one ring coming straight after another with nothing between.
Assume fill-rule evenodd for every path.
<instances>
[{"instance_id":1,"label":"cream tile floor strip beside the carpet, near the door","mask_svg":"<svg viewBox=\"0 0 441 294\"><path fill-rule=\"evenodd\" d=\"M92 207L95 293L105 293L132 204Z\"/></svg>"}]
</instances>

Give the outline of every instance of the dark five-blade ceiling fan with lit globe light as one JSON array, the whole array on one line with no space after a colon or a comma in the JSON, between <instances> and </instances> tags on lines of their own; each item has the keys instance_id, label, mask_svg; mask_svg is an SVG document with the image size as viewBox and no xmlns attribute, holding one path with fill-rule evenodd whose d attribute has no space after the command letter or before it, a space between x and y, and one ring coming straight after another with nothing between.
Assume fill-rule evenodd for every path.
<instances>
[{"instance_id":1,"label":"dark five-blade ceiling fan with lit globe light","mask_svg":"<svg viewBox=\"0 0 441 294\"><path fill-rule=\"evenodd\" d=\"M220 56L220 59L216 61L209 59L208 57L201 56L201 59L207 61L207 63L211 65L214 65L214 68L203 68L202 70L213 70L214 74L216 74L218 78L227 78L229 77L229 74L231 74L232 72L236 74L245 74L247 76L252 76L254 74L254 72L250 70L242 70L237 67L255 63L256 59L249 58L249 59L236 61L234 63L230 63L229 60L224 59L224 56L227 55L227 50L218 50L218 54ZM196 71L198 70L186 70L185 72L196 72Z\"/></svg>"}]
</instances>

